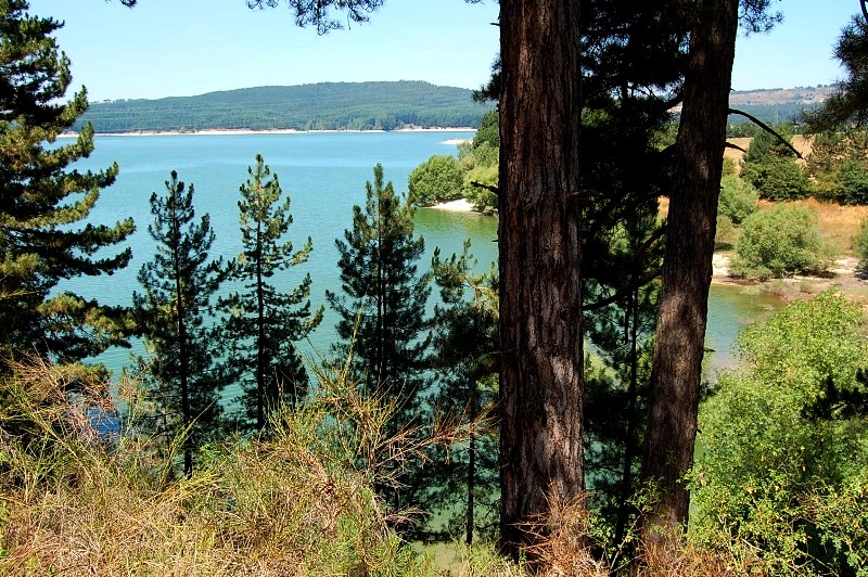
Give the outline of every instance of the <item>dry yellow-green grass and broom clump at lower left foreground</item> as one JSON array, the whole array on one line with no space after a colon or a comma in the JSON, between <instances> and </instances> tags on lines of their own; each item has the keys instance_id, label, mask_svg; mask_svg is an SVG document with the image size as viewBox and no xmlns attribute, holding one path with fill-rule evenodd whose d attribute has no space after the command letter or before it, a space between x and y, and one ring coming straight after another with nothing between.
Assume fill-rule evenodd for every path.
<instances>
[{"instance_id":1,"label":"dry yellow-green grass and broom clump at lower left foreground","mask_svg":"<svg viewBox=\"0 0 868 577\"><path fill-rule=\"evenodd\" d=\"M322 374L271 437L208 446L176 477L133 427L95 432L94 401L114 408L103 384L68 395L75 373L20 364L2 383L0 574L433 575L372 487L379 456L421 454L448 427L386 439L390 408Z\"/></svg>"}]
</instances>

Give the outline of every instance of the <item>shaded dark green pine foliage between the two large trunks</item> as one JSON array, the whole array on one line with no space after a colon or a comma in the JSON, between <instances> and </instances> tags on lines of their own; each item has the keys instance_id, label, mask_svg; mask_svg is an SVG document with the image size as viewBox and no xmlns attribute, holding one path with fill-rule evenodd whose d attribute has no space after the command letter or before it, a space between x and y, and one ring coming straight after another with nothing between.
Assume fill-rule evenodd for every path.
<instances>
[{"instance_id":1,"label":"shaded dark green pine foliage between the two large trunks","mask_svg":"<svg viewBox=\"0 0 868 577\"><path fill-rule=\"evenodd\" d=\"M621 546L637 512L630 500L639 489L660 293L658 284L640 279L663 256L661 245L640 251L658 226L653 211L621 223L605 238L605 260L586 281L586 334L595 347L585 363L588 504L599 517L595 530L610 547ZM597 306L607 297L616 298Z\"/></svg>"}]
</instances>

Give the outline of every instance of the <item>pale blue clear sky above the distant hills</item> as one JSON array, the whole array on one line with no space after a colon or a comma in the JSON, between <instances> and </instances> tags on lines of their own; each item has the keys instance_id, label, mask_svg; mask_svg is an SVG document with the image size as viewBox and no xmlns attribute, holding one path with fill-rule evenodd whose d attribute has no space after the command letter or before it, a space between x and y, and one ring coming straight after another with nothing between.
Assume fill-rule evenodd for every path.
<instances>
[{"instance_id":1,"label":"pale blue clear sky above the distant hills","mask_svg":"<svg viewBox=\"0 0 868 577\"><path fill-rule=\"evenodd\" d=\"M245 0L30 0L31 12L64 21L61 48L74 86L91 100L201 94L320 81L427 80L477 88L498 51L495 0L386 0L369 24L318 36L284 7ZM732 88L791 88L835 81L832 44L858 0L774 2L784 21L740 37Z\"/></svg>"}]
</instances>

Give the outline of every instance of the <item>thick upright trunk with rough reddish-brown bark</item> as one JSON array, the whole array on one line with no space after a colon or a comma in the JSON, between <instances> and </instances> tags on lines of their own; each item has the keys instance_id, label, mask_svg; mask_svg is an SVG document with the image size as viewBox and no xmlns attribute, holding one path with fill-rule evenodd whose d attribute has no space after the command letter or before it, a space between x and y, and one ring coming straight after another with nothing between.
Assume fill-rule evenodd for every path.
<instances>
[{"instance_id":1,"label":"thick upright trunk with rough reddish-brown bark","mask_svg":"<svg viewBox=\"0 0 868 577\"><path fill-rule=\"evenodd\" d=\"M501 539L584 488L579 2L501 0Z\"/></svg>"}]
</instances>

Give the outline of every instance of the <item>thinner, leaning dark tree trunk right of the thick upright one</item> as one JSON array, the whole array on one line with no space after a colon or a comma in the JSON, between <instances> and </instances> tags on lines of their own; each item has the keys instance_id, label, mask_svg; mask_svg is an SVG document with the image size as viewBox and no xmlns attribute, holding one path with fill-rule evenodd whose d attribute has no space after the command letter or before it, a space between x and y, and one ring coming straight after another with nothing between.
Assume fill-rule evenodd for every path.
<instances>
[{"instance_id":1,"label":"thinner, leaning dark tree trunk right of the thick upright one","mask_svg":"<svg viewBox=\"0 0 868 577\"><path fill-rule=\"evenodd\" d=\"M643 546L675 544L690 496L709 285L738 30L738 0L699 0L685 78L669 202L663 288L651 373L642 478L658 489L643 517ZM665 553L666 551L660 551Z\"/></svg>"}]
</instances>

